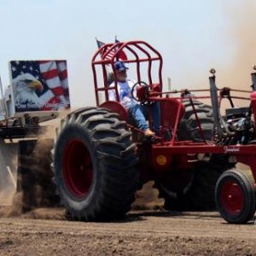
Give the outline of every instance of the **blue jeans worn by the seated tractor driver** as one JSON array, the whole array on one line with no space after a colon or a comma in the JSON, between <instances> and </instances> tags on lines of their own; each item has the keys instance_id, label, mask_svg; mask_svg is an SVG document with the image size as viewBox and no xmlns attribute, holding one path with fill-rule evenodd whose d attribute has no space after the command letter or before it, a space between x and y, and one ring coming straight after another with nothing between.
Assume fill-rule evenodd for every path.
<instances>
[{"instance_id":1,"label":"blue jeans worn by the seated tractor driver","mask_svg":"<svg viewBox=\"0 0 256 256\"><path fill-rule=\"evenodd\" d=\"M148 113L151 113L153 128L156 134L160 130L160 103L153 102L150 105L140 105L136 102L132 102L129 106L126 107L128 111L129 118L135 122L137 128L146 131L149 129L148 122L145 116L148 116Z\"/></svg>"}]
</instances>

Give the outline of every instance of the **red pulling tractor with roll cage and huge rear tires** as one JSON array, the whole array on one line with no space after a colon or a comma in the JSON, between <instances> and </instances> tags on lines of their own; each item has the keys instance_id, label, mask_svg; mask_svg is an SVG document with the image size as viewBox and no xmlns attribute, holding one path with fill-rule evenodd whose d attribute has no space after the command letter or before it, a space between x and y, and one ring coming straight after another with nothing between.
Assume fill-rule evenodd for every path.
<instances>
[{"instance_id":1,"label":"red pulling tractor with roll cage and huge rear tires","mask_svg":"<svg viewBox=\"0 0 256 256\"><path fill-rule=\"evenodd\" d=\"M136 67L138 82L131 90L134 99L149 108L152 102L160 104L158 136L143 137L143 131L132 125L119 103L113 67L124 53L123 61ZM55 183L72 218L122 218L131 209L137 189L149 180L154 180L168 210L201 211L214 209L217 204L230 223L246 223L253 218L253 178L235 166L237 162L247 164L256 177L255 73L253 92L226 87L219 90L214 70L210 90L164 92L162 57L143 41L104 44L91 65L96 107L81 108L62 119L55 143ZM109 69L115 81L111 86ZM115 90L117 101L108 100L109 90ZM250 96L231 96L233 91ZM206 96L194 95L199 92ZM207 99L212 106L201 102ZM222 115L219 109L224 99L231 107ZM236 108L234 99L250 101L248 108ZM148 123L152 126L150 113Z\"/></svg>"}]
</instances>

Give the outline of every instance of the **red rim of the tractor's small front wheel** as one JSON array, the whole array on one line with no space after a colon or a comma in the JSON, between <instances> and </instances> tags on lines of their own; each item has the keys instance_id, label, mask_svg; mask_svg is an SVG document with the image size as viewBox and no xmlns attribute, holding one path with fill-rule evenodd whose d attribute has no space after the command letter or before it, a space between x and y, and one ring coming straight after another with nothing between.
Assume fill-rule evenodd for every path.
<instances>
[{"instance_id":1,"label":"red rim of the tractor's small front wheel","mask_svg":"<svg viewBox=\"0 0 256 256\"><path fill-rule=\"evenodd\" d=\"M239 183L231 180L224 182L220 200L225 211L230 215L238 215L244 206L244 195Z\"/></svg>"}]
</instances>

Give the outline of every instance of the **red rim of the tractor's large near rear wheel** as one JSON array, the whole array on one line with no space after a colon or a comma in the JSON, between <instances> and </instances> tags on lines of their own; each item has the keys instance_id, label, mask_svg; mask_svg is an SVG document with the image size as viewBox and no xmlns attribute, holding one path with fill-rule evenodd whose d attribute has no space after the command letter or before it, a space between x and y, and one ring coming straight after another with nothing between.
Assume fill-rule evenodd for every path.
<instances>
[{"instance_id":1,"label":"red rim of the tractor's large near rear wheel","mask_svg":"<svg viewBox=\"0 0 256 256\"><path fill-rule=\"evenodd\" d=\"M93 166L90 153L79 139L70 140L64 149L62 173L69 192L84 197L90 191Z\"/></svg>"}]
</instances>

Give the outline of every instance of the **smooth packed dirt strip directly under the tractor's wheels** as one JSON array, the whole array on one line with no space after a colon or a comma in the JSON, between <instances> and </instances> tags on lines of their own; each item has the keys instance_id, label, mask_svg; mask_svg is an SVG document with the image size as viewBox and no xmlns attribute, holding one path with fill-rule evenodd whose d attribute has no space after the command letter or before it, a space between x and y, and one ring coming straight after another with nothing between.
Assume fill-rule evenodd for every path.
<instances>
[{"instance_id":1,"label":"smooth packed dirt strip directly under the tractor's wheels","mask_svg":"<svg viewBox=\"0 0 256 256\"><path fill-rule=\"evenodd\" d=\"M170 214L168 216L167 214ZM195 215L196 214L196 215ZM149 216L148 216L149 215ZM222 218L218 218L215 212L187 212L184 215L174 215L168 212L141 212L131 213L124 221L115 223L83 223L60 220L43 220L27 218L2 218L0 220L0 233L8 233L15 230L17 233L40 232L54 233L61 230L68 234L148 234L156 236L201 236L201 237L236 237L241 239L256 239L256 226L254 222L244 225L226 224Z\"/></svg>"}]
</instances>

